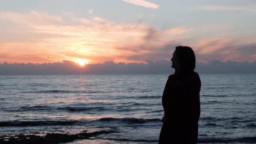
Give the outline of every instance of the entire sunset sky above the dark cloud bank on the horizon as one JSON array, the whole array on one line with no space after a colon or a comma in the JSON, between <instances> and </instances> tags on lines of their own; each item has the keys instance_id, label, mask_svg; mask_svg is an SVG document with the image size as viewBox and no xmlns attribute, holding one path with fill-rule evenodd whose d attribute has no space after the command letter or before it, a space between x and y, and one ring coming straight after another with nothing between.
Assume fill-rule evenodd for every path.
<instances>
[{"instance_id":1,"label":"entire sunset sky above the dark cloud bank on the horizon","mask_svg":"<svg viewBox=\"0 0 256 144\"><path fill-rule=\"evenodd\" d=\"M256 60L256 0L0 2L0 63Z\"/></svg>"}]
</instances>

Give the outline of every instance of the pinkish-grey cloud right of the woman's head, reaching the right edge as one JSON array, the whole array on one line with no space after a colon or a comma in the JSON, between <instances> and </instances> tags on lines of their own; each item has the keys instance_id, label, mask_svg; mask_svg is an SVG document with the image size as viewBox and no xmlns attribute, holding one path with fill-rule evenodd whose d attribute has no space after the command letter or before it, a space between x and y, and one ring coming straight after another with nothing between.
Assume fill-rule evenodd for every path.
<instances>
[{"instance_id":1,"label":"pinkish-grey cloud right of the woman's head, reaching the right edge","mask_svg":"<svg viewBox=\"0 0 256 144\"><path fill-rule=\"evenodd\" d=\"M227 61L237 62L256 61L256 43L243 41L243 39L208 39L192 46L197 60L203 61Z\"/></svg>"}]
</instances>

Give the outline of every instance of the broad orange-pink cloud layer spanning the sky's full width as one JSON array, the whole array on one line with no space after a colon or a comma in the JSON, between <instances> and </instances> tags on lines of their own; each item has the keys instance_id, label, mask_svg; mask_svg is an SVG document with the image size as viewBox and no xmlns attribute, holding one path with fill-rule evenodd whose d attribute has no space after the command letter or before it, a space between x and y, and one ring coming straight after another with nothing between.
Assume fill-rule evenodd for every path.
<instances>
[{"instance_id":1,"label":"broad orange-pink cloud layer spanning the sky's full width","mask_svg":"<svg viewBox=\"0 0 256 144\"><path fill-rule=\"evenodd\" d=\"M256 60L255 37L228 35L225 29L230 26L227 25L158 29L144 23L117 23L102 17L51 16L36 11L0 12L0 19L9 22L7 26L2 25L6 32L0 33L3 38L0 39L0 62L169 61L178 45L191 46L198 62ZM212 36L201 38L193 33Z\"/></svg>"}]
</instances>

